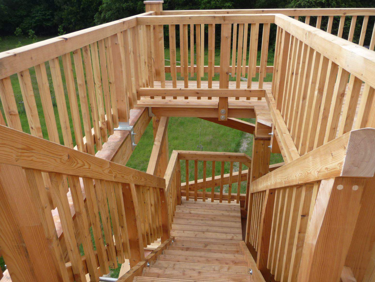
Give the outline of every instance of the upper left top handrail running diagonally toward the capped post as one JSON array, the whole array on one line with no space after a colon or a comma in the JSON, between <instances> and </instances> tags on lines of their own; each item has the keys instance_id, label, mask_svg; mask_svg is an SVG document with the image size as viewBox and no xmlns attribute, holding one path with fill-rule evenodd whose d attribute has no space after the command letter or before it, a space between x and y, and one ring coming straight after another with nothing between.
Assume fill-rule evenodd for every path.
<instances>
[{"instance_id":1,"label":"upper left top handrail running diagonally toward the capped post","mask_svg":"<svg viewBox=\"0 0 375 282\"><path fill-rule=\"evenodd\" d=\"M153 12L141 15L150 15ZM140 15L124 18L99 26L89 27L62 36L29 44L0 53L0 79L18 73L50 59L72 52L108 36L137 25Z\"/></svg>"}]
</instances>

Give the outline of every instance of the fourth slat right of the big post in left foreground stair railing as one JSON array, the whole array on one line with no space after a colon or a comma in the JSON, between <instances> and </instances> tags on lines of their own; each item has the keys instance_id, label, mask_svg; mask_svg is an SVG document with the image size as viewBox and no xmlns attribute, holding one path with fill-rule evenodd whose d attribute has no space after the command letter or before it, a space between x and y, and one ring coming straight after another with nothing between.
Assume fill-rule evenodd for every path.
<instances>
[{"instance_id":1,"label":"fourth slat right of the big post in left foreground stair railing","mask_svg":"<svg viewBox=\"0 0 375 282\"><path fill-rule=\"evenodd\" d=\"M96 204L95 188L93 180L90 178L82 178L86 194L87 211L90 215L91 226L93 230L96 251L99 261L99 275L107 274L109 270L107 252L104 249L104 239L102 227L100 224L98 205Z\"/></svg>"}]
</instances>

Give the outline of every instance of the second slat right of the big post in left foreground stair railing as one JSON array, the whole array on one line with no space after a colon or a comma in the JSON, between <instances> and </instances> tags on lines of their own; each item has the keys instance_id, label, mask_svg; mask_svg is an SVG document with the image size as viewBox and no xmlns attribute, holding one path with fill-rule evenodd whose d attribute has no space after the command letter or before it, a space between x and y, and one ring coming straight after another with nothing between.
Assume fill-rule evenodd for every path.
<instances>
[{"instance_id":1,"label":"second slat right of the big post in left foreground stair railing","mask_svg":"<svg viewBox=\"0 0 375 282\"><path fill-rule=\"evenodd\" d=\"M74 226L68 198L66 196L66 181L62 174L49 173L51 179L51 194L57 205L60 222L63 227L65 244L67 246L69 259L71 260L74 278L77 281L85 281L85 273L80 252L78 250L77 240L75 238Z\"/></svg>"}]
</instances>

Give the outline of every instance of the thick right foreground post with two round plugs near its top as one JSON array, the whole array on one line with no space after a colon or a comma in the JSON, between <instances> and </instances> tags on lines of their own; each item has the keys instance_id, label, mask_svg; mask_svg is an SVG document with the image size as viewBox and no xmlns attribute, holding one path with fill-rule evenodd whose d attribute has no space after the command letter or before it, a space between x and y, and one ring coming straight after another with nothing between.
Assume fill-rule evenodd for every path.
<instances>
[{"instance_id":1,"label":"thick right foreground post with two round plugs near its top","mask_svg":"<svg viewBox=\"0 0 375 282\"><path fill-rule=\"evenodd\" d=\"M365 179L322 180L306 231L298 281L338 281L353 237Z\"/></svg>"}]
</instances>

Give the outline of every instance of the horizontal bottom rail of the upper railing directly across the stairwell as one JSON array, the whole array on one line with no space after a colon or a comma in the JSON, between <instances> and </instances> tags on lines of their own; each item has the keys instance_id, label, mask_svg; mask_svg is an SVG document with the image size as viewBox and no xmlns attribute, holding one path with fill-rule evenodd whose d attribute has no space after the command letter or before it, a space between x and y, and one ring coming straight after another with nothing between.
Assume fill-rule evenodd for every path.
<instances>
[{"instance_id":1,"label":"horizontal bottom rail of the upper railing directly across the stairwell","mask_svg":"<svg viewBox=\"0 0 375 282\"><path fill-rule=\"evenodd\" d=\"M139 88L139 96L160 97L264 97L264 89Z\"/></svg>"}]
</instances>

